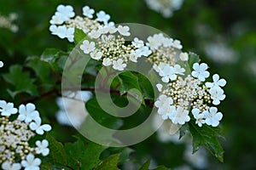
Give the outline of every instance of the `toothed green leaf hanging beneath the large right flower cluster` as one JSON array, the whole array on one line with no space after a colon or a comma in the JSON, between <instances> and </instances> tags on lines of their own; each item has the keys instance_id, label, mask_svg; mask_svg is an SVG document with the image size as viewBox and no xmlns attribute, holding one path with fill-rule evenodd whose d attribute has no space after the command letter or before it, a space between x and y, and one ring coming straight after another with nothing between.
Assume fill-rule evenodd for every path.
<instances>
[{"instance_id":1,"label":"toothed green leaf hanging beneath the large right flower cluster","mask_svg":"<svg viewBox=\"0 0 256 170\"><path fill-rule=\"evenodd\" d=\"M219 161L224 162L224 150L218 141L218 127L210 127L207 125L198 127L195 125L195 122L189 122L189 132L193 137L193 153L195 153L200 146L205 146L213 156L217 157Z\"/></svg>"}]
</instances>

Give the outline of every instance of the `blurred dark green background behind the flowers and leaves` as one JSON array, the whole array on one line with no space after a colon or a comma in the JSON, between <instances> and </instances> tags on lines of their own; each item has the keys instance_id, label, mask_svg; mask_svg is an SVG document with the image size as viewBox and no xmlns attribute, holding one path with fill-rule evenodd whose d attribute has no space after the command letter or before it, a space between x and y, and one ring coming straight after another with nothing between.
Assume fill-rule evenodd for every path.
<instances>
[{"instance_id":1,"label":"blurred dark green background behind the flowers and leaves","mask_svg":"<svg viewBox=\"0 0 256 170\"><path fill-rule=\"evenodd\" d=\"M105 10L115 23L153 26L181 40L184 51L200 54L210 71L228 82L224 88L227 98L219 107L224 114L224 163L209 154L207 169L256 169L256 1L184 0L171 18L164 18L143 0L0 0L0 14L18 14L15 24L19 27L16 33L0 28L0 60L4 63L1 74L9 71L9 65L24 65L28 56L40 56L45 48L67 50L67 40L49 32L49 20L60 3L73 5L76 14L82 14L81 8L89 5L96 11ZM1 98L11 99L6 88L1 83ZM47 111L44 109L51 100L38 100L38 110L55 121L55 102ZM54 127L57 139L72 140L64 133L65 129L75 133L71 127L57 123ZM183 145L161 143L155 135L132 148L137 161L148 157L166 167L184 163Z\"/></svg>"}]
</instances>

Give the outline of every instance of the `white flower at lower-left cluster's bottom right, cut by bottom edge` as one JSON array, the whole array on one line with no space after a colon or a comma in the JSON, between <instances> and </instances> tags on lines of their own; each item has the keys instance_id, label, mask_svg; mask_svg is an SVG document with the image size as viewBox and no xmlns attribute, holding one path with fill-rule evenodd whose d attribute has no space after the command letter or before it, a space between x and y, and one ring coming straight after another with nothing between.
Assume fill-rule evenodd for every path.
<instances>
[{"instance_id":1,"label":"white flower at lower-left cluster's bottom right, cut by bottom edge","mask_svg":"<svg viewBox=\"0 0 256 170\"><path fill-rule=\"evenodd\" d=\"M32 154L28 154L26 156L26 161L21 161L22 167L25 167L25 170L39 170L40 169L41 160L39 158L35 159L35 156Z\"/></svg>"}]
</instances>

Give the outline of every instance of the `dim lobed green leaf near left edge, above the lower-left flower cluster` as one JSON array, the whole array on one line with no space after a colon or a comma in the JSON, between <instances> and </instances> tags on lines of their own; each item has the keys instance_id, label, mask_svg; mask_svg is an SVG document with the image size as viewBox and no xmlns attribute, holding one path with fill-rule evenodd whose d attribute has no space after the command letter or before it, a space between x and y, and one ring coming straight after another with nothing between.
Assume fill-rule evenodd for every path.
<instances>
[{"instance_id":1,"label":"dim lobed green leaf near left edge, above the lower-left flower cluster","mask_svg":"<svg viewBox=\"0 0 256 170\"><path fill-rule=\"evenodd\" d=\"M15 87L14 90L8 89L7 91L12 98L20 93L27 93L30 95L38 95L38 89L33 84L34 80L30 78L29 72L22 71L20 65L12 65L9 67L9 73L4 74L3 78Z\"/></svg>"}]
</instances>

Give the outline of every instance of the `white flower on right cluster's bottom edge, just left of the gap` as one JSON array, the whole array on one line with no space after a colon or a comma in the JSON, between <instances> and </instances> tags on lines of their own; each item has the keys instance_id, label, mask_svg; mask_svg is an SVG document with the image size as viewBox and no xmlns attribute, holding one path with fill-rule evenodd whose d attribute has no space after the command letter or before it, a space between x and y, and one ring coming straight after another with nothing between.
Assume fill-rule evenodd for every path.
<instances>
[{"instance_id":1,"label":"white flower on right cluster's bottom edge, just left of the gap","mask_svg":"<svg viewBox=\"0 0 256 170\"><path fill-rule=\"evenodd\" d=\"M183 107L177 106L177 111L175 116L172 116L172 122L174 124L185 124L185 122L189 122L190 117L189 117L189 111L184 110Z\"/></svg>"}]
</instances>

